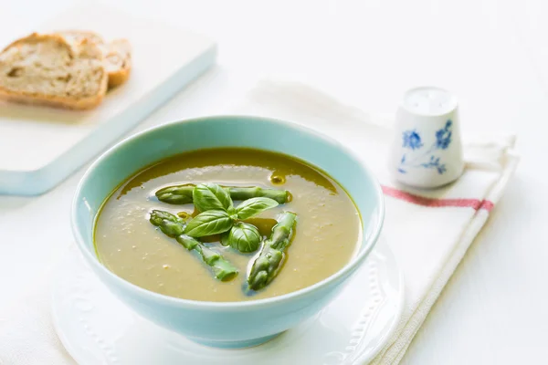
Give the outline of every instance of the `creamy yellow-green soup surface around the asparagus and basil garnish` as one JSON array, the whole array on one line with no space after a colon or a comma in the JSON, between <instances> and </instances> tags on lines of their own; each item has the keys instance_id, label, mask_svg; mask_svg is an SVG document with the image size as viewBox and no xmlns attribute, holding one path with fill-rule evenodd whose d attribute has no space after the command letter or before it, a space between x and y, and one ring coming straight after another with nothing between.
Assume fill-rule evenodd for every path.
<instances>
[{"instance_id":1,"label":"creamy yellow-green soup surface around the asparagus and basil garnish","mask_svg":"<svg viewBox=\"0 0 548 365\"><path fill-rule=\"evenodd\" d=\"M290 192L289 203L245 221L269 237L280 214L297 214L283 266L267 287L251 296L243 289L249 265L260 248L242 254L220 245L218 235L201 237L201 242L238 269L234 279L223 282L212 275L195 251L188 251L149 222L154 209L197 214L192 203L163 203L154 196L164 186L184 183L259 186ZM235 201L235 206L238 203ZM185 299L241 301L287 294L332 276L353 257L361 241L361 226L352 199L323 172L279 153L227 148L184 153L133 175L101 207L94 239L100 262L137 286Z\"/></svg>"}]
</instances>

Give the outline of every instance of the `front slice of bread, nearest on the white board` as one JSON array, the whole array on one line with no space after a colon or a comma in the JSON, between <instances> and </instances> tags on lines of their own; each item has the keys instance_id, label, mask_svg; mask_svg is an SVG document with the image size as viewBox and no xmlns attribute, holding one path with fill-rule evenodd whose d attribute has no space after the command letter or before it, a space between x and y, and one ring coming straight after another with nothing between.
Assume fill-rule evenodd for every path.
<instances>
[{"instance_id":1,"label":"front slice of bread, nearest on the white board","mask_svg":"<svg viewBox=\"0 0 548 365\"><path fill-rule=\"evenodd\" d=\"M0 97L85 110L102 101L108 83L103 51L87 39L58 35L16 40L0 53Z\"/></svg>"}]
</instances>

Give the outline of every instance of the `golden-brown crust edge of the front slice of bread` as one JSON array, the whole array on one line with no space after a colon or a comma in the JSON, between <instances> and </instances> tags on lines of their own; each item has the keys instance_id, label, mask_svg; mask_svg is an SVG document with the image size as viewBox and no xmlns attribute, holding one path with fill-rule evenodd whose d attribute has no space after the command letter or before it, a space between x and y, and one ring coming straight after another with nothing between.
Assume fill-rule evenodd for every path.
<instances>
[{"instance_id":1,"label":"golden-brown crust edge of the front slice of bread","mask_svg":"<svg viewBox=\"0 0 548 365\"><path fill-rule=\"evenodd\" d=\"M7 51L8 49L11 49L12 47L21 47L23 44L28 43L39 43L43 41L49 41L53 40L54 42L57 42L60 47L65 47L68 49L69 55L71 57L79 57L79 45L71 45L69 44L66 39L63 36L59 36L57 34L47 34L47 35L40 35L37 33L32 33L29 36L25 36L23 38L17 39L16 41L12 42L10 45L4 48L2 52L0 52L0 55ZM97 54L102 57L102 52L90 52L90 47L93 47L89 44L89 42L84 42L82 45L82 50L85 49L86 53L88 53L88 57L90 54ZM84 48L85 47L85 48ZM91 49L92 50L92 49ZM102 60L102 58L99 58ZM6 89L2 85L0 85L0 98L10 100L10 101L16 101L19 103L24 104L40 104L40 105L47 105L52 107L61 107L66 108L70 110L88 110L97 107L102 99L105 96L105 93L107 91L107 85L108 85L108 74L104 67L100 70L101 76L100 76L100 85L99 85L99 92L97 95L91 96L91 97L85 97L85 98L74 98L74 97L59 97L55 95L47 95L39 92L27 92L27 91L17 91L17 90L11 90Z\"/></svg>"}]
</instances>

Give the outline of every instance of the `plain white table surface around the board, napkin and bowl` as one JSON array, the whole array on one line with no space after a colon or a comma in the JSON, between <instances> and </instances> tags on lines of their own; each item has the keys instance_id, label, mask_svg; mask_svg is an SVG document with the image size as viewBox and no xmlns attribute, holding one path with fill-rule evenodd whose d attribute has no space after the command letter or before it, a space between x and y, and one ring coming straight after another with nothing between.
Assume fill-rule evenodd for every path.
<instances>
[{"instance_id":1,"label":"plain white table surface around the board, napkin and bowl","mask_svg":"<svg viewBox=\"0 0 548 365\"><path fill-rule=\"evenodd\" d=\"M394 111L402 92L417 84L443 86L460 99L464 133L517 132L522 162L516 176L403 364L545 361L547 2L112 3L136 15L194 28L215 37L220 46L219 66L138 130L227 108L258 76L274 74L311 82L373 112ZM70 4L2 2L0 43ZM0 196L0 311L70 244L69 205L84 169L40 197Z\"/></svg>"}]
</instances>

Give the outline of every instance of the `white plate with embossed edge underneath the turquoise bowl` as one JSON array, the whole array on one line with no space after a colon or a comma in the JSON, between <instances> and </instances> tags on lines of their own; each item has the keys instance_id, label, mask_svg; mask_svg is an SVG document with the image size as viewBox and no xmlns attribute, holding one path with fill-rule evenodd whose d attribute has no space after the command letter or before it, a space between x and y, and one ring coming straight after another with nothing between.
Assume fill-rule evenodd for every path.
<instances>
[{"instance_id":1,"label":"white plate with embossed edge underneath the turquoise bowl","mask_svg":"<svg viewBox=\"0 0 548 365\"><path fill-rule=\"evenodd\" d=\"M393 334L404 306L402 273L381 241L315 318L254 348L212 349L134 314L100 283L75 247L58 267L53 321L81 365L365 364Z\"/></svg>"}]
</instances>

